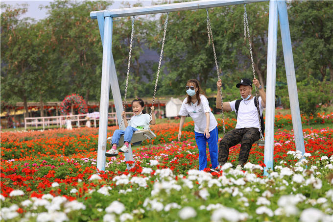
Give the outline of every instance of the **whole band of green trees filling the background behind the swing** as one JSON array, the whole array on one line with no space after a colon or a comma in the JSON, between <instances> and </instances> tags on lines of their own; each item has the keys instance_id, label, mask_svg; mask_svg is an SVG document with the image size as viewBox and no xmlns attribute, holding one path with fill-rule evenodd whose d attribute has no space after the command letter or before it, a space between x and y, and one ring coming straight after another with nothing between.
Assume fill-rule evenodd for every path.
<instances>
[{"instance_id":1,"label":"whole band of green trees filling the background behind the swing","mask_svg":"<svg viewBox=\"0 0 333 222\"><path fill-rule=\"evenodd\" d=\"M59 101L72 93L82 95L86 101L99 100L102 44L97 20L92 20L89 12L106 9L111 4L111 1L52 1L45 6L48 17L34 21L19 19L27 5L14 8L2 3L1 100L13 104L28 100ZM320 82L333 81L332 4L331 1L288 3L298 81L309 79L309 76ZM126 2L122 5L136 6L142 5ZM263 84L268 12L268 2L247 5L254 67ZM209 9L226 101L238 98L234 85L240 78L252 78L248 40L244 40L243 13L243 5ZM212 45L208 44L206 16L205 9L169 14L157 97L184 94L183 86L190 78L197 78L207 94L216 90L217 74ZM135 19L128 97L153 94L165 19L165 14ZM118 20L113 23L113 56L123 95L132 18ZM278 38L276 79L286 82L282 55ZM319 81L313 84L321 87ZM286 86L277 87L277 94L288 107ZM332 95L332 91L328 94Z\"/></svg>"}]
</instances>

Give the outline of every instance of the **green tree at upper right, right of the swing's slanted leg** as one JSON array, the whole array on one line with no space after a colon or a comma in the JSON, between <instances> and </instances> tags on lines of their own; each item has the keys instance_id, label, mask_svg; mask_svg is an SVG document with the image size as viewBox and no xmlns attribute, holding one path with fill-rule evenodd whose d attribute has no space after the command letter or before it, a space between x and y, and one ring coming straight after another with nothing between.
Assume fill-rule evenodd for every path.
<instances>
[{"instance_id":1,"label":"green tree at upper right, right of the swing's slanted leg","mask_svg":"<svg viewBox=\"0 0 333 222\"><path fill-rule=\"evenodd\" d=\"M289 17L298 78L333 81L333 2L291 1Z\"/></svg>"}]
</instances>

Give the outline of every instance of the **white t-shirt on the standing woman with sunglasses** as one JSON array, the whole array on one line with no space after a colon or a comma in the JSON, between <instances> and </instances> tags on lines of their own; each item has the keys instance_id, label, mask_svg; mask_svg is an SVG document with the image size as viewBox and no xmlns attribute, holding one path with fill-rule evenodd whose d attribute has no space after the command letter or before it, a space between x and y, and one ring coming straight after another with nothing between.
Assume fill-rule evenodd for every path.
<instances>
[{"instance_id":1,"label":"white t-shirt on the standing woman with sunglasses","mask_svg":"<svg viewBox=\"0 0 333 222\"><path fill-rule=\"evenodd\" d=\"M187 98L183 100L182 107L180 108L179 115L190 117L194 121L194 131L198 133L204 133L206 129L206 115L205 113L209 112L209 131L212 131L216 126L216 119L211 112L211 108L209 107L208 99L204 95L200 95L200 104L198 105L198 101L194 104L187 104Z\"/></svg>"}]
</instances>

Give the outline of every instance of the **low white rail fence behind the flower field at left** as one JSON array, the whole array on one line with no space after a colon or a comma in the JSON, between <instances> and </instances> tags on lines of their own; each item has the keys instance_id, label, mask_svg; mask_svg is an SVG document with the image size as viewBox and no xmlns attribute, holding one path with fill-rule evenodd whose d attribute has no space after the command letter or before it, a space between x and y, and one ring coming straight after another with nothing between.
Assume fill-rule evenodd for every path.
<instances>
[{"instance_id":1,"label":"low white rail fence behind the flower field at left","mask_svg":"<svg viewBox=\"0 0 333 222\"><path fill-rule=\"evenodd\" d=\"M67 116L52 116L52 117L26 117L24 118L24 129L26 129L27 126L35 126L38 128L38 126L43 126L43 129L45 129L46 126L50 125L58 125L61 127L66 127L66 119L67 117L70 117L71 122L76 123L77 127L80 127L80 123L83 122L85 126L85 123L87 121L94 121L94 126L96 127L96 121L99 121L99 117L91 117L91 114L79 114L79 115L67 115ZM90 117L89 120L86 118ZM126 119L130 119L129 117L126 117ZM116 113L108 113L108 120L112 120L118 125L117 120L117 114Z\"/></svg>"}]
</instances>

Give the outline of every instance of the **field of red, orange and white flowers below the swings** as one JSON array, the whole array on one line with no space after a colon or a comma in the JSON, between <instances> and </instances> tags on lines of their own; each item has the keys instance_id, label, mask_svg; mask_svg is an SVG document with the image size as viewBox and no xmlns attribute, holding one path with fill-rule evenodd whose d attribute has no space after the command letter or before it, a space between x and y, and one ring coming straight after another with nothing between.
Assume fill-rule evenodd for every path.
<instances>
[{"instance_id":1,"label":"field of red, orange and white flowers below the swings","mask_svg":"<svg viewBox=\"0 0 333 222\"><path fill-rule=\"evenodd\" d=\"M292 131L277 130L274 172L263 177L257 145L243 171L235 169L240 145L220 173L198 171L192 127L178 142L178 123L153 125L157 137L134 147L133 169L119 154L99 173L96 128L1 132L1 221L333 221L332 128L304 129L304 156Z\"/></svg>"}]
</instances>

